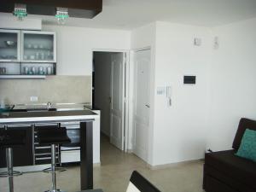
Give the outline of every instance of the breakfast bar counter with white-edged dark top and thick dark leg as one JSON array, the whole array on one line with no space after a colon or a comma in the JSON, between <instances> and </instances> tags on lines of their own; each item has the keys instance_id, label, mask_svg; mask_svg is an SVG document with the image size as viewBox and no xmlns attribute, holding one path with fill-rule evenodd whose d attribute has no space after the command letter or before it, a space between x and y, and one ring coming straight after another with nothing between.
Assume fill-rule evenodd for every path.
<instances>
[{"instance_id":1,"label":"breakfast bar counter with white-edged dark top and thick dark leg","mask_svg":"<svg viewBox=\"0 0 256 192\"><path fill-rule=\"evenodd\" d=\"M9 112L0 113L0 125L8 128L12 125L27 125L34 128L36 124L50 124L68 121L80 122L80 178L81 189L93 189L93 159L92 159L92 122L97 114L90 110L75 111L45 111L45 112ZM3 158L3 157L1 157Z\"/></svg>"}]
</instances>

